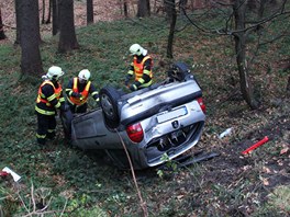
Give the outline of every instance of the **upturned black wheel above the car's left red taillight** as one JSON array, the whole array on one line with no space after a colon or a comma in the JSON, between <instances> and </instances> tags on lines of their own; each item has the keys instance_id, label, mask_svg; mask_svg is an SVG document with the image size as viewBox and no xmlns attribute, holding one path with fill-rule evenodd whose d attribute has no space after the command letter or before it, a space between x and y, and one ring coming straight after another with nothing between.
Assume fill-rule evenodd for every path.
<instances>
[{"instance_id":1,"label":"upturned black wheel above the car's left red taillight","mask_svg":"<svg viewBox=\"0 0 290 217\"><path fill-rule=\"evenodd\" d=\"M118 100L121 93L112 87L104 87L100 90L99 98L107 125L112 128L118 127L120 124Z\"/></svg>"}]
</instances>

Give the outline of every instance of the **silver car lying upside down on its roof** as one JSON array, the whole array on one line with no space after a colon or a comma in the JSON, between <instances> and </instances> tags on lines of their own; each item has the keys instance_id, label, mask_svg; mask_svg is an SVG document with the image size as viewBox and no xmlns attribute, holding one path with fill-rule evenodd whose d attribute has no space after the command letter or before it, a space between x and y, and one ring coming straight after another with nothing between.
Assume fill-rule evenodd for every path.
<instances>
[{"instance_id":1,"label":"silver car lying upside down on its roof","mask_svg":"<svg viewBox=\"0 0 290 217\"><path fill-rule=\"evenodd\" d=\"M135 170L175 159L199 141L205 121L202 91L187 65L177 62L168 78L132 93L100 90L100 108L72 117L63 114L70 142L83 150L104 150L119 169Z\"/></svg>"}]
</instances>

